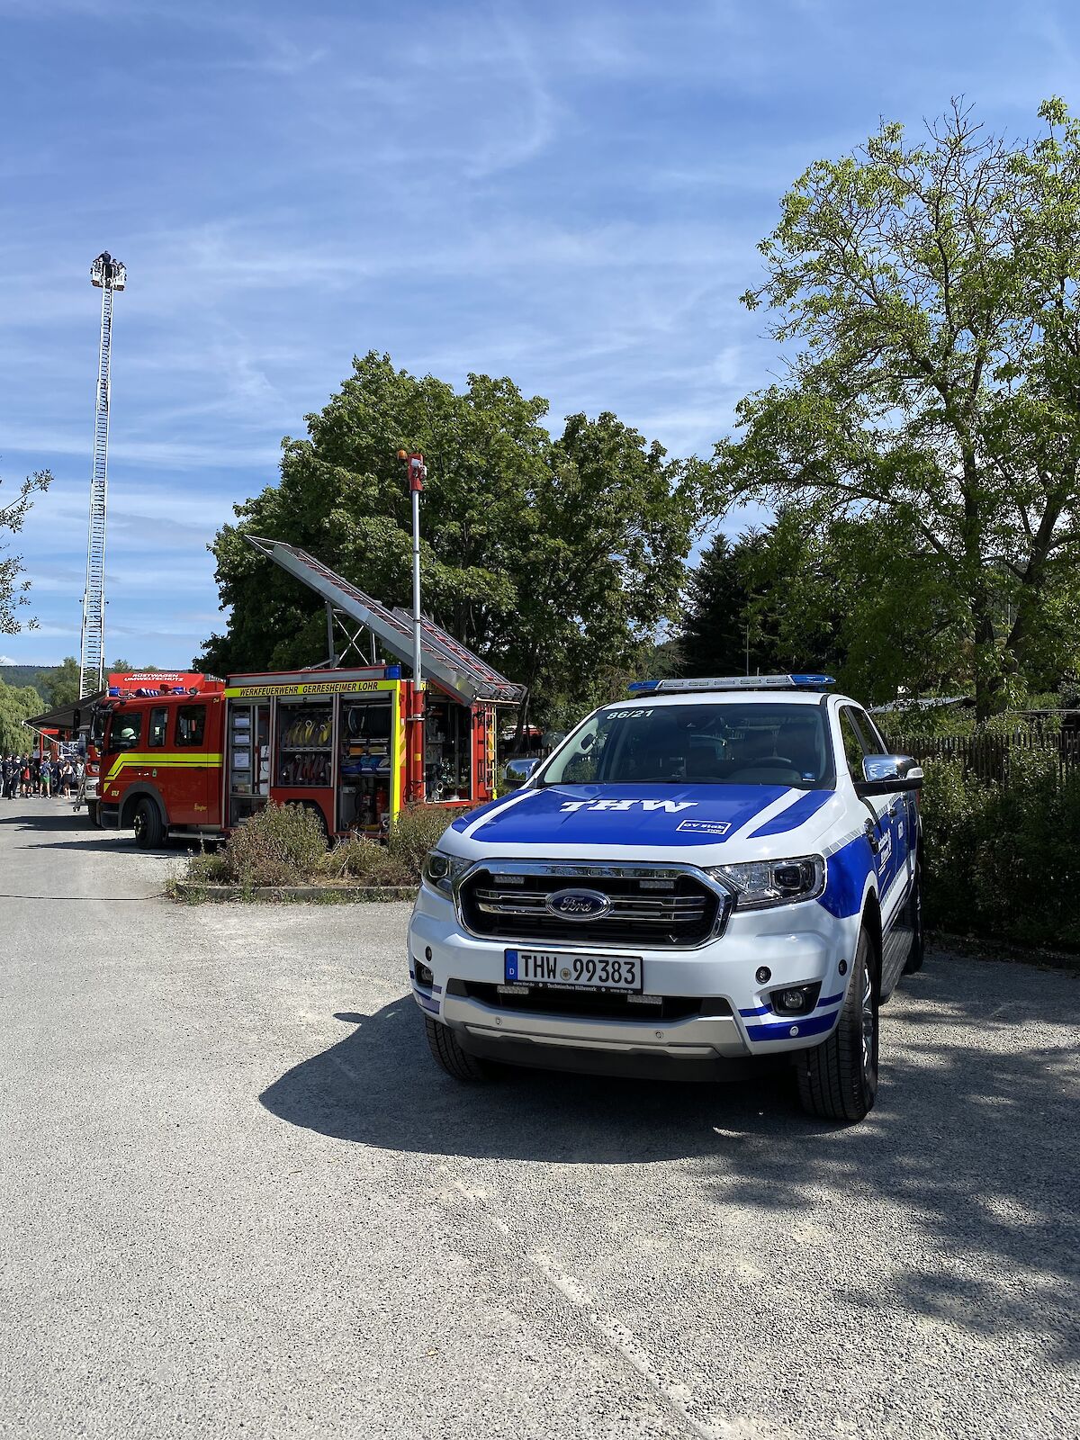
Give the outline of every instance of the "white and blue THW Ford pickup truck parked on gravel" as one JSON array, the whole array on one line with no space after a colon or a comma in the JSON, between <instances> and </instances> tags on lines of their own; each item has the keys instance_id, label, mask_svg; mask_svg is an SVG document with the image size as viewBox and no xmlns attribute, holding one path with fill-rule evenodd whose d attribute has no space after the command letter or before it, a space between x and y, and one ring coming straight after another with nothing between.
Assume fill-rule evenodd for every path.
<instances>
[{"instance_id":1,"label":"white and blue THW Ford pickup truck parked on gravel","mask_svg":"<svg viewBox=\"0 0 1080 1440\"><path fill-rule=\"evenodd\" d=\"M828 675L660 680L428 855L409 973L435 1058L724 1079L780 1056L861 1120L923 960L922 770Z\"/></svg>"}]
</instances>

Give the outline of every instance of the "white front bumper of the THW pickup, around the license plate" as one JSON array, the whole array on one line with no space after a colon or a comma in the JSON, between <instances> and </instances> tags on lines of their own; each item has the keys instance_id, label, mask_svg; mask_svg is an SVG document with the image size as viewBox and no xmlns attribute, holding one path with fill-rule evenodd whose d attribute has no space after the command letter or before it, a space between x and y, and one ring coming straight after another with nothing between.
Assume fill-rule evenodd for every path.
<instances>
[{"instance_id":1,"label":"white front bumper of the THW pickup, around the license plate","mask_svg":"<svg viewBox=\"0 0 1080 1440\"><path fill-rule=\"evenodd\" d=\"M600 1018L517 1009L469 988L504 981L504 949L629 953L626 948L478 939L462 930L451 900L420 888L409 922L409 972L416 1004L449 1025L465 1050L552 1068L621 1068L618 1060L649 1061L668 1070L711 1068L752 1057L821 1044L835 1027L858 939L858 926L838 920L816 901L775 910L734 912L719 939L693 950L634 948L642 956L649 995L700 1001L678 1020ZM432 972L416 982L416 960ZM768 979L756 976L768 971ZM770 992L819 984L815 1008L799 1017L778 1014ZM488 1002L491 1001L491 1002ZM687 1007L683 1007L684 1009ZM694 1008L694 1007L691 1007ZM590 1063L585 1063L592 1057Z\"/></svg>"}]
</instances>

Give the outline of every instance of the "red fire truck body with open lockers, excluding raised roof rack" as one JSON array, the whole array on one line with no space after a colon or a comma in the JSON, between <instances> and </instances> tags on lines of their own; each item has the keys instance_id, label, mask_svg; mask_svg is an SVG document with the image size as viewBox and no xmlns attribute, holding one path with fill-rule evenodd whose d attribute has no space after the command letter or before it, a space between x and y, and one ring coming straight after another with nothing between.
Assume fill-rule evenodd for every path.
<instances>
[{"instance_id":1,"label":"red fire truck body with open lockers, excluding raised roof rack","mask_svg":"<svg viewBox=\"0 0 1080 1440\"><path fill-rule=\"evenodd\" d=\"M217 691L120 696L98 707L99 818L144 847L220 835L266 801L325 834L377 837L408 798L412 681L396 665L230 675ZM426 691L429 804L491 799L495 704Z\"/></svg>"}]
</instances>

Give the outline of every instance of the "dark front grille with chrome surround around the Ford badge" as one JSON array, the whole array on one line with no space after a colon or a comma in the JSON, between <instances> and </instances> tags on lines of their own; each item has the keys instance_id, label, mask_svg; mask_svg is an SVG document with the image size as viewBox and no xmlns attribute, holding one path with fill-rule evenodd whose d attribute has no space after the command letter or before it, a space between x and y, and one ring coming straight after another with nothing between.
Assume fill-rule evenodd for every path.
<instances>
[{"instance_id":1,"label":"dark front grille with chrome surround around the Ford badge","mask_svg":"<svg viewBox=\"0 0 1080 1440\"><path fill-rule=\"evenodd\" d=\"M559 914L557 897L566 891L598 897L592 906L599 913ZM465 927L485 939L668 949L719 935L730 900L704 874L677 864L507 860L474 867L458 888L458 904Z\"/></svg>"}]
</instances>

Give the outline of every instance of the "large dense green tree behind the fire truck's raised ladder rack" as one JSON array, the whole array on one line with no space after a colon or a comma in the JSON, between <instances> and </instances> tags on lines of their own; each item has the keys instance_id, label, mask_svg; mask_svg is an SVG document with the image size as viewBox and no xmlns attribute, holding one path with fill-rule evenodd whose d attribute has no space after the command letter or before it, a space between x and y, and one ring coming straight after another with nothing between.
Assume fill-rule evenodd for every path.
<instances>
[{"instance_id":1,"label":"large dense green tree behind the fire truck's raised ladder rack","mask_svg":"<svg viewBox=\"0 0 1080 1440\"><path fill-rule=\"evenodd\" d=\"M410 603L410 518L399 446L429 467L423 603L441 625L544 694L589 691L629 665L677 608L704 467L672 462L613 415L566 422L505 379L455 392L367 354L285 439L281 482L238 505L213 553L225 634L194 661L225 674L311 664L325 649L317 596L243 531L302 546L387 605ZM569 677L569 680L567 680ZM541 717L543 719L543 717ZM524 723L524 716L523 716Z\"/></svg>"}]
</instances>

